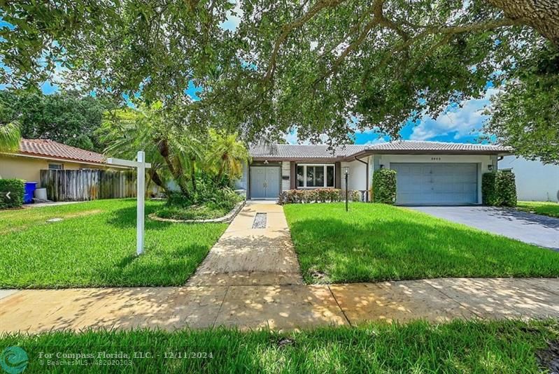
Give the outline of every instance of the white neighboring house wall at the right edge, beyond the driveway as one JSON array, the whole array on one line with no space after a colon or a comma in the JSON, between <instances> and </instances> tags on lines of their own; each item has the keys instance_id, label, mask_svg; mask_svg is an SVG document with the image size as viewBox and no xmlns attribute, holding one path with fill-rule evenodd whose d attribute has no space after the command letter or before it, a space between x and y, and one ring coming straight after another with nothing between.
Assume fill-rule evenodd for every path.
<instances>
[{"instance_id":1,"label":"white neighboring house wall at the right edge, beyond the driveway","mask_svg":"<svg viewBox=\"0 0 559 374\"><path fill-rule=\"evenodd\" d=\"M559 201L558 165L507 156L499 161L499 168L510 170L516 176L518 200Z\"/></svg>"}]
</instances>

